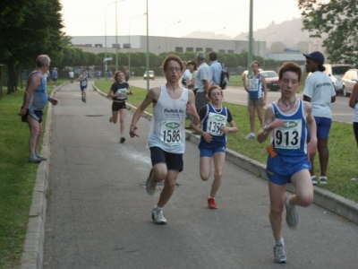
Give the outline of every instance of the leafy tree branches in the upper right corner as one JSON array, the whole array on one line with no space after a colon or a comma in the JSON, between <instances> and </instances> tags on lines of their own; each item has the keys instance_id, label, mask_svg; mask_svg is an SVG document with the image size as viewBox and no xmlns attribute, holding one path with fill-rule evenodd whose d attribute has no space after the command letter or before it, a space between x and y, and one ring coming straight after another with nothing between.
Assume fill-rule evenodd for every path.
<instances>
[{"instance_id":1,"label":"leafy tree branches in the upper right corner","mask_svg":"<svg viewBox=\"0 0 358 269\"><path fill-rule=\"evenodd\" d=\"M303 30L311 38L322 38L331 62L356 63L358 60L358 8L356 0L299 0L303 10Z\"/></svg>"}]
</instances>

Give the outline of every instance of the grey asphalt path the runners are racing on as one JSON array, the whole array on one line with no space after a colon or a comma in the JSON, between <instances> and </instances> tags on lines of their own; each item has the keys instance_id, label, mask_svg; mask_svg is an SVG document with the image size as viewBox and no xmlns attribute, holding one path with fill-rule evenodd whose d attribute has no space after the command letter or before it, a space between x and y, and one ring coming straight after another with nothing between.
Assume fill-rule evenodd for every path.
<instances>
[{"instance_id":1,"label":"grey asphalt path the runners are racing on","mask_svg":"<svg viewBox=\"0 0 358 269\"><path fill-rule=\"evenodd\" d=\"M299 209L296 230L283 223L288 264L274 264L267 181L226 161L219 209L209 210L212 179L200 180L191 142L164 210L168 223L154 224L158 192L144 187L149 121L141 118L141 137L121 144L119 126L108 122L110 100L90 87L82 103L78 83L55 97L43 268L356 268L358 225L315 204ZM128 111L127 132L131 119Z\"/></svg>"}]
</instances>

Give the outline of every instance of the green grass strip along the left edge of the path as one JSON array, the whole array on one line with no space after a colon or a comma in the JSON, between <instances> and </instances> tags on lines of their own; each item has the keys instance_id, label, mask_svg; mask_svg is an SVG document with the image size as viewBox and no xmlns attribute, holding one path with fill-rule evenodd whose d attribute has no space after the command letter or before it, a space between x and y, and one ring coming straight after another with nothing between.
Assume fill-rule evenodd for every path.
<instances>
[{"instance_id":1,"label":"green grass strip along the left edge of the path","mask_svg":"<svg viewBox=\"0 0 358 269\"><path fill-rule=\"evenodd\" d=\"M6 91L0 100L0 268L13 269L20 267L38 165L28 161L30 131L18 116L25 89Z\"/></svg>"}]
</instances>

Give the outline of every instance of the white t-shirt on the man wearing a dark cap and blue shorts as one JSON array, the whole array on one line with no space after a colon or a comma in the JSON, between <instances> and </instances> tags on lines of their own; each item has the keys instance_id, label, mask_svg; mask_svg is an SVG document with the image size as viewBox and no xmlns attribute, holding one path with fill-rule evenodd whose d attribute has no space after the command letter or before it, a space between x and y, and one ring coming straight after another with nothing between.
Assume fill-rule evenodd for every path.
<instances>
[{"instance_id":1,"label":"white t-shirt on the man wearing a dark cap and blue shorts","mask_svg":"<svg viewBox=\"0 0 358 269\"><path fill-rule=\"evenodd\" d=\"M313 72L306 78L303 95L311 98L314 117L332 118L330 111L331 98L336 96L335 88L328 74Z\"/></svg>"}]
</instances>

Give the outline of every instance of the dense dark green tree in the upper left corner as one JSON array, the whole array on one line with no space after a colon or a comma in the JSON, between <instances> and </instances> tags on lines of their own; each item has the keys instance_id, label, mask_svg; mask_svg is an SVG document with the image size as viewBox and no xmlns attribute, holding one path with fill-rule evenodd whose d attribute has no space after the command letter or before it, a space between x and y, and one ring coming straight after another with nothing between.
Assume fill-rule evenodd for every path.
<instances>
[{"instance_id":1,"label":"dense dark green tree in the upper left corner","mask_svg":"<svg viewBox=\"0 0 358 269\"><path fill-rule=\"evenodd\" d=\"M16 90L17 74L34 66L40 54L61 51L59 0L4 0L0 8L0 60L8 68L8 93ZM61 56L58 54L57 56Z\"/></svg>"}]
</instances>

